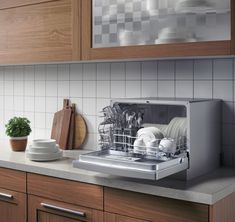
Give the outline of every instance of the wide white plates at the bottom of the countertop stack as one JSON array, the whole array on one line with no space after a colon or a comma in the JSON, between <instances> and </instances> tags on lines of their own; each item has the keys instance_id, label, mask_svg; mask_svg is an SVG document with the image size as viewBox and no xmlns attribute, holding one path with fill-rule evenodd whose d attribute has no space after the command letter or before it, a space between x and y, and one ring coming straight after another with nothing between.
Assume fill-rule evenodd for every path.
<instances>
[{"instance_id":1,"label":"wide white plates at the bottom of the countertop stack","mask_svg":"<svg viewBox=\"0 0 235 222\"><path fill-rule=\"evenodd\" d=\"M57 153L50 153L50 154L39 154L39 153L31 153L29 151L26 151L26 156L33 161L39 161L39 162L44 162L44 161L52 161L52 160L57 160L62 157L63 151L59 151Z\"/></svg>"}]
</instances>

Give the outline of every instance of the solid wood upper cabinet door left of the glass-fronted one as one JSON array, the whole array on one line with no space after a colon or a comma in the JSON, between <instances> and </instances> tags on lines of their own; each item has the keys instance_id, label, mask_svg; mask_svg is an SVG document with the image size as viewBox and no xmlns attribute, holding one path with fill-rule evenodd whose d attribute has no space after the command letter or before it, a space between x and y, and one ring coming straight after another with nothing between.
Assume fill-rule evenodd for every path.
<instances>
[{"instance_id":1,"label":"solid wood upper cabinet door left of the glass-fronted one","mask_svg":"<svg viewBox=\"0 0 235 222\"><path fill-rule=\"evenodd\" d=\"M0 63L80 59L81 0L0 2Z\"/></svg>"}]
</instances>

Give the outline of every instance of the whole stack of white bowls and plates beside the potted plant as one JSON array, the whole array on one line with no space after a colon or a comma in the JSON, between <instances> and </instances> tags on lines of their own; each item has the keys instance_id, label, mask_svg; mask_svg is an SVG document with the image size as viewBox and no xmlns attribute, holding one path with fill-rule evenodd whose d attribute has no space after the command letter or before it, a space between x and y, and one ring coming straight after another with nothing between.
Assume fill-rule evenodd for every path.
<instances>
[{"instance_id":1,"label":"whole stack of white bowls and plates beside the potted plant","mask_svg":"<svg viewBox=\"0 0 235 222\"><path fill-rule=\"evenodd\" d=\"M52 139L33 140L26 151L26 156L33 161L52 161L62 157L62 151Z\"/></svg>"}]
</instances>

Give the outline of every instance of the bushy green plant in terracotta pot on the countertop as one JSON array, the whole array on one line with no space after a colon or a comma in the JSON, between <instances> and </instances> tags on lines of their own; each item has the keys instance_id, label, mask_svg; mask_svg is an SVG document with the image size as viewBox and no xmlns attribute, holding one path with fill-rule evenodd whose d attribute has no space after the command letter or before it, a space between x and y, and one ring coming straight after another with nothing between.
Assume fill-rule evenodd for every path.
<instances>
[{"instance_id":1,"label":"bushy green plant in terracotta pot on the countertop","mask_svg":"<svg viewBox=\"0 0 235 222\"><path fill-rule=\"evenodd\" d=\"M30 121L24 117L13 117L8 121L6 134L10 137L13 151L25 151L28 135L31 133Z\"/></svg>"}]
</instances>

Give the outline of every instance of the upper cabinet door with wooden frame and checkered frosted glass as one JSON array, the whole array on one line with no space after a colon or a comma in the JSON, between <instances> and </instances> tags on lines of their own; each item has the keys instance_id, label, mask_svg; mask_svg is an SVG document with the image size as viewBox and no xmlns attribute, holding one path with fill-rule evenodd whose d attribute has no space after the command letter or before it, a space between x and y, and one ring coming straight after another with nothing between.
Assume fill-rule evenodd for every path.
<instances>
[{"instance_id":1,"label":"upper cabinet door with wooden frame and checkered frosted glass","mask_svg":"<svg viewBox=\"0 0 235 222\"><path fill-rule=\"evenodd\" d=\"M233 0L107 2L82 1L83 60L235 54Z\"/></svg>"}]
</instances>

